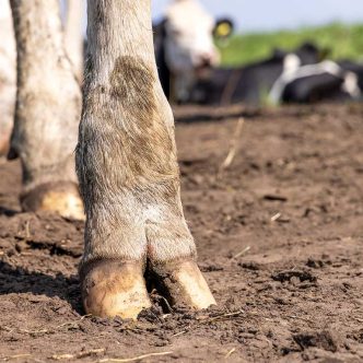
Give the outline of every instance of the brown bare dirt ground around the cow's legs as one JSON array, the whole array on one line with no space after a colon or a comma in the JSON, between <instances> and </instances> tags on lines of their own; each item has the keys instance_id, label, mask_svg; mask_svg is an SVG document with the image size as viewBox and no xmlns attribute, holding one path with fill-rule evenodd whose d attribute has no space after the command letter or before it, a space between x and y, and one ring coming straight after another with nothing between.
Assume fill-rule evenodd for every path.
<instances>
[{"instance_id":1,"label":"brown bare dirt ground around the cow's legs","mask_svg":"<svg viewBox=\"0 0 363 363\"><path fill-rule=\"evenodd\" d=\"M20 164L2 161L0 360L363 362L363 105L245 110L233 149L238 114L176 110L185 212L219 302L198 314L153 293L137 323L83 316L83 224L20 213Z\"/></svg>"}]
</instances>

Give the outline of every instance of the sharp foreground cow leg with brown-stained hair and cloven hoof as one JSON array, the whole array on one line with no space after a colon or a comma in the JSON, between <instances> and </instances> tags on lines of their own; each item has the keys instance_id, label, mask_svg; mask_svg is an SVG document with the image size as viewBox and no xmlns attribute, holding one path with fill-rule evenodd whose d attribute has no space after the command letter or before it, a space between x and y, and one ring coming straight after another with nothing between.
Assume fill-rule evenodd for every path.
<instances>
[{"instance_id":1,"label":"sharp foreground cow leg with brown-stained hair and cloven hoof","mask_svg":"<svg viewBox=\"0 0 363 363\"><path fill-rule=\"evenodd\" d=\"M136 318L150 306L144 274L172 303L208 307L215 302L183 214L150 0L90 0L87 9L90 58L77 148L86 313Z\"/></svg>"}]
</instances>

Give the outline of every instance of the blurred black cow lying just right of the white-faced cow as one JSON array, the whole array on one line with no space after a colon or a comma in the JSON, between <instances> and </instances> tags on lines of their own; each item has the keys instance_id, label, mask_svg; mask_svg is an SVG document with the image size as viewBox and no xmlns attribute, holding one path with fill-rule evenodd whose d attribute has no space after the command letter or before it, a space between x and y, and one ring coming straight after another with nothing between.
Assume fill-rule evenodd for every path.
<instances>
[{"instance_id":1,"label":"blurred black cow lying just right of the white-faced cow","mask_svg":"<svg viewBox=\"0 0 363 363\"><path fill-rule=\"evenodd\" d=\"M321 51L306 43L294 51L280 49L262 61L239 68L214 68L207 77L198 79L188 102L221 105L243 102L258 105L268 97L282 74L296 71L305 65L319 61Z\"/></svg>"}]
</instances>

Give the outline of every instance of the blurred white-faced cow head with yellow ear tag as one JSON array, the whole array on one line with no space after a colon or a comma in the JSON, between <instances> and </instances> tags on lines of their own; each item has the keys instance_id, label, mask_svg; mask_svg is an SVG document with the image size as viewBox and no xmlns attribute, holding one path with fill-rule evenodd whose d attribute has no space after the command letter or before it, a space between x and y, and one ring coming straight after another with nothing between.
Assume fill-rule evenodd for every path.
<instances>
[{"instance_id":1,"label":"blurred white-faced cow head with yellow ear tag","mask_svg":"<svg viewBox=\"0 0 363 363\"><path fill-rule=\"evenodd\" d=\"M173 101L185 102L198 74L219 65L214 38L226 38L233 23L226 19L215 21L197 0L174 0L153 28L164 93Z\"/></svg>"}]
</instances>

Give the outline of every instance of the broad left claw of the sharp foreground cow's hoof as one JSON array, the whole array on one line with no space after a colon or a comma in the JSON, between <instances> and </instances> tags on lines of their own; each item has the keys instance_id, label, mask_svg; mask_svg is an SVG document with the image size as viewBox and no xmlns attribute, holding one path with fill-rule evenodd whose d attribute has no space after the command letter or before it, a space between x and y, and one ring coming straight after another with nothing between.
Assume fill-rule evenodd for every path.
<instances>
[{"instance_id":1,"label":"broad left claw of the sharp foreground cow's hoof","mask_svg":"<svg viewBox=\"0 0 363 363\"><path fill-rule=\"evenodd\" d=\"M101 260L81 272L82 300L86 314L137 319L151 306L142 264Z\"/></svg>"}]
</instances>

